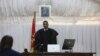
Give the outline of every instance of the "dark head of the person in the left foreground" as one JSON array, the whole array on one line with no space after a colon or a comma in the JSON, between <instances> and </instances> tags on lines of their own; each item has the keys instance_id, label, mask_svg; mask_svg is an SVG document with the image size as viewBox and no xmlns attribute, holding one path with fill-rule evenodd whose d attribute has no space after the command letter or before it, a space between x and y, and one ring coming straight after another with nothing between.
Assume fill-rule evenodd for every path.
<instances>
[{"instance_id":1,"label":"dark head of the person in the left foreground","mask_svg":"<svg viewBox=\"0 0 100 56\"><path fill-rule=\"evenodd\" d=\"M12 48L13 38L12 36L5 35L1 39L0 48Z\"/></svg>"}]
</instances>

